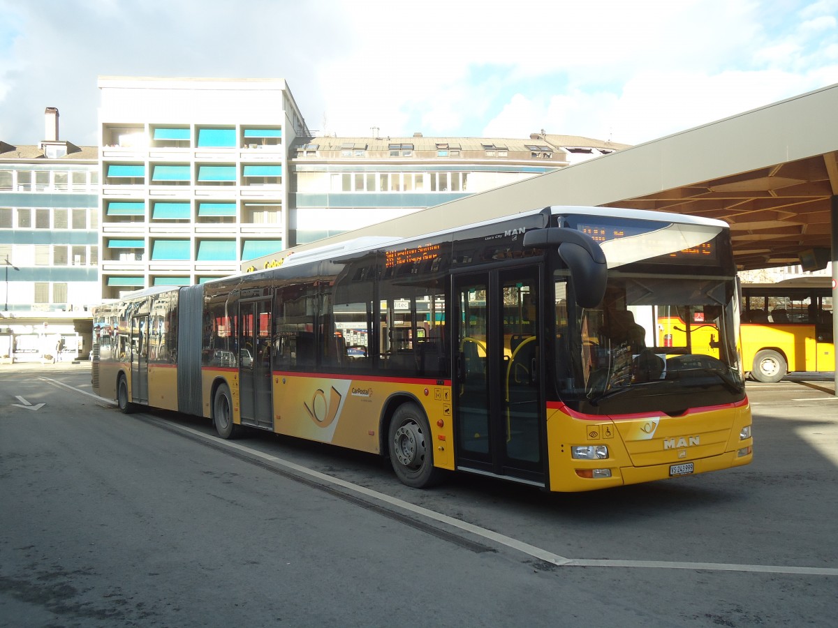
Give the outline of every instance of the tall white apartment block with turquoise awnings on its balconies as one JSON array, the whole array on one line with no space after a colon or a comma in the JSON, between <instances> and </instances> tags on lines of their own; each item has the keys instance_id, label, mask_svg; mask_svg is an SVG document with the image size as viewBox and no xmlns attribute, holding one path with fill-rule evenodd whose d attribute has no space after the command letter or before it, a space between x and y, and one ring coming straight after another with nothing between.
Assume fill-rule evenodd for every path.
<instances>
[{"instance_id":1,"label":"tall white apartment block with turquoise awnings on its balconies","mask_svg":"<svg viewBox=\"0 0 838 628\"><path fill-rule=\"evenodd\" d=\"M287 245L284 80L101 77L101 297L230 275Z\"/></svg>"}]
</instances>

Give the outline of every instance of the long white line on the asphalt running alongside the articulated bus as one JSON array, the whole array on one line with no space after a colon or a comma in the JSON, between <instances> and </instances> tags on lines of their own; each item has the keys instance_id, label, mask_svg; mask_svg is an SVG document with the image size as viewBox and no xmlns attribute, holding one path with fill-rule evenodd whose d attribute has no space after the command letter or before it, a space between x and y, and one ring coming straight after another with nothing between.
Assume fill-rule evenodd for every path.
<instances>
[{"instance_id":1,"label":"long white line on the asphalt running alongside the articulated bus","mask_svg":"<svg viewBox=\"0 0 838 628\"><path fill-rule=\"evenodd\" d=\"M57 382L54 379L49 378L41 378L44 381L52 383L56 386L59 386L63 389L72 390L76 393L86 394L89 397L97 399L99 401L106 402L107 404L116 405L116 402L112 401L111 399L105 399L103 397L99 397L96 394L87 393L84 390L73 388L72 386L68 386L65 383ZM498 543L499 545L504 545L507 548L514 549L520 553L525 553L528 556L531 556L534 559L542 560L546 563L555 564L559 567L623 567L623 568L634 568L634 569L704 569L706 571L742 571L742 572L751 572L751 573L758 573L758 574L794 574L794 575L822 575L822 576L838 576L838 569L829 568L829 567L792 567L792 566L785 566L785 565L758 565L758 564L727 564L727 563L690 563L685 561L663 561L663 560L619 560L619 559L568 559L564 556L560 556L557 553L552 553L543 548L537 548L535 545L530 545L530 543L525 543L520 541L516 538L511 538L506 536L505 534L496 533L492 530L488 530L486 528L481 528L480 526L476 526L473 523L461 521L460 519L455 519L454 517L448 517L447 515L443 515L442 512L432 511L428 508L422 506L416 506L415 504L411 504L410 502L405 502L404 500L398 499L397 497L391 497L389 495L385 495L384 493L380 493L377 491L373 491L370 488L366 488L365 486L359 486L357 484L353 484L352 482L341 480L340 478L328 476L325 473L321 473L319 471L314 471L313 469L309 469L306 466L297 465L294 462L283 460L277 456L271 456L270 454L263 453L258 450L253 450L245 445L239 445L235 442L230 442L230 440L220 440L215 436L210 436L201 432L199 430L194 430L193 428L187 427L185 425L177 425L175 423L171 423L167 421L167 425L170 427L176 428L178 430L182 430L184 432L188 432L189 434L199 436L204 440L211 441L214 445L221 445L225 447L229 447L230 449L235 449L242 451L249 456L256 456L261 458L265 461L270 461L274 464L279 466L284 466L287 469L291 469L292 471L296 471L297 473L301 473L305 476L313 477L318 479L319 481L327 482L328 484L333 484L335 486L342 486L343 488L359 493L360 495L364 495L365 497L370 497L375 499L379 502L385 502L390 504L391 506L395 506L406 510L408 512L413 512L416 515L420 515L422 517L427 517L432 519L433 521L437 521L440 523L444 523L448 526L453 528L458 528L465 532L475 534L480 538L485 538L489 541L494 541L494 543Z\"/></svg>"}]
</instances>

